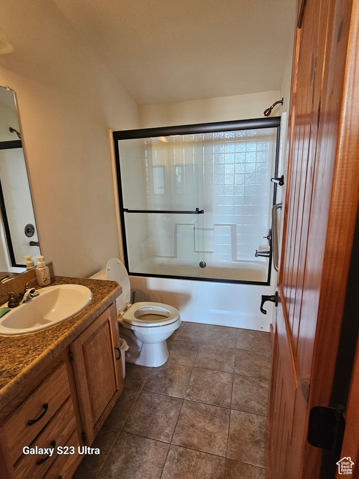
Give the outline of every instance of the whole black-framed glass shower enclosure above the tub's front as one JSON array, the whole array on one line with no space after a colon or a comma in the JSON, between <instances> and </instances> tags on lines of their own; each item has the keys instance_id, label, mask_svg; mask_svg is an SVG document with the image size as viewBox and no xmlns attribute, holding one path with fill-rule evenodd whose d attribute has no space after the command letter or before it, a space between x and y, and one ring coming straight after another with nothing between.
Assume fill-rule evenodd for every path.
<instances>
[{"instance_id":1,"label":"whole black-framed glass shower enclosure above the tub's front","mask_svg":"<svg viewBox=\"0 0 359 479\"><path fill-rule=\"evenodd\" d=\"M130 275L270 284L280 117L113 138Z\"/></svg>"}]
</instances>

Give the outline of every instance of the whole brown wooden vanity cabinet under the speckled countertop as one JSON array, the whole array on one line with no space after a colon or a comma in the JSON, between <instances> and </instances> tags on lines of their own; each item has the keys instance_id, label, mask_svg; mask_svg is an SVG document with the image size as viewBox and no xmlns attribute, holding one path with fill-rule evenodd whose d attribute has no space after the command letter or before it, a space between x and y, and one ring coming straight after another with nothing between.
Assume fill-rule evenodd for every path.
<instances>
[{"instance_id":1,"label":"whole brown wooden vanity cabinet under the speckled countertop","mask_svg":"<svg viewBox=\"0 0 359 479\"><path fill-rule=\"evenodd\" d=\"M123 389L115 304L0 411L1 479L70 479ZM51 456L23 447L54 448ZM75 454L58 454L73 446Z\"/></svg>"}]
</instances>

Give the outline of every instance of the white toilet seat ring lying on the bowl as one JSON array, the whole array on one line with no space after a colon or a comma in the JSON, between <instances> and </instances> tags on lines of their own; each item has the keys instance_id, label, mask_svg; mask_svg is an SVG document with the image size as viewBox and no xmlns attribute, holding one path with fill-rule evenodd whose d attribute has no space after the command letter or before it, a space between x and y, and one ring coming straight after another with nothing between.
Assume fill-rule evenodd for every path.
<instances>
[{"instance_id":1,"label":"white toilet seat ring lying on the bowl","mask_svg":"<svg viewBox=\"0 0 359 479\"><path fill-rule=\"evenodd\" d=\"M146 328L165 326L179 319L179 311L167 304L143 301L128 308L121 319L127 324Z\"/></svg>"}]
</instances>

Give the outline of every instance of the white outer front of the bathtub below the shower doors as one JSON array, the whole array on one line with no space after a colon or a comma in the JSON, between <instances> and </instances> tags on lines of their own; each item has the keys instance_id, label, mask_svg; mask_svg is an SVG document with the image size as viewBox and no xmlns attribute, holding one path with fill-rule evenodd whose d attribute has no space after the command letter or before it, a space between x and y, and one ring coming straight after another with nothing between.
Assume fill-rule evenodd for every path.
<instances>
[{"instance_id":1,"label":"white outer front of the bathtub below the shower doors","mask_svg":"<svg viewBox=\"0 0 359 479\"><path fill-rule=\"evenodd\" d=\"M253 272L253 276L256 275L258 271ZM261 295L274 294L275 287L272 285L132 275L130 283L131 290L136 292L135 301L155 301L174 306L179 310L182 321L269 331L275 312L274 304L270 302L264 307L266 315L259 310Z\"/></svg>"}]
</instances>

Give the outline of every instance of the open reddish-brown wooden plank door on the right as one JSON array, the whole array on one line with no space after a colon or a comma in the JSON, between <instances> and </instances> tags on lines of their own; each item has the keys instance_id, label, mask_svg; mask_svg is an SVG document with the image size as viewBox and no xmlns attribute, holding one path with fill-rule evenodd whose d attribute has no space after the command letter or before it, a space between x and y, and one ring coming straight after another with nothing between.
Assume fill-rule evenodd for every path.
<instances>
[{"instance_id":1,"label":"open reddish-brown wooden plank door on the right","mask_svg":"<svg viewBox=\"0 0 359 479\"><path fill-rule=\"evenodd\" d=\"M266 438L273 479L320 474L322 450L306 434L310 409L329 405L358 208L357 3L298 9Z\"/></svg>"}]
</instances>

